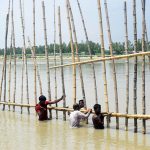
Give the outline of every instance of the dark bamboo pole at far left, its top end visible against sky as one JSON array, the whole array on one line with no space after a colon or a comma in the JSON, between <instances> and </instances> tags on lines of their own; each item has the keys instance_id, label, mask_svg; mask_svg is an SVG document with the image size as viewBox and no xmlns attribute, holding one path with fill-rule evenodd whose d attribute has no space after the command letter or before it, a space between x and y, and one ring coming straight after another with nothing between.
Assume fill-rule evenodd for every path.
<instances>
[{"instance_id":1,"label":"dark bamboo pole at far left, its top end visible against sky","mask_svg":"<svg viewBox=\"0 0 150 150\"><path fill-rule=\"evenodd\" d=\"M7 61L7 37L8 37L8 23L9 14L6 17L6 33L5 33L5 50L4 50L4 102L6 102L6 61ZM5 110L5 104L3 105L3 110Z\"/></svg>"}]
</instances>

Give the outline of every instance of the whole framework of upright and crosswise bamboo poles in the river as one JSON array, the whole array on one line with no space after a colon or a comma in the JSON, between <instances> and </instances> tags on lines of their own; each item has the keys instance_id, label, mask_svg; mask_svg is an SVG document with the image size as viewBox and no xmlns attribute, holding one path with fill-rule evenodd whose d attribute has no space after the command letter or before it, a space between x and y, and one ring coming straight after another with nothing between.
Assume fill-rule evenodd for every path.
<instances>
[{"instance_id":1,"label":"whole framework of upright and crosswise bamboo poles in the river","mask_svg":"<svg viewBox=\"0 0 150 150\"><path fill-rule=\"evenodd\" d=\"M47 72L47 95L48 99L52 98L51 92L51 73L50 71L54 70L54 89L55 89L55 99L58 97L58 86L60 84L57 82L58 74L57 69L60 69L60 76L61 76L61 89L63 95L66 95L65 89L65 81L64 81L64 69L66 67L72 67L72 89L73 89L73 103L76 103L77 100L77 70L79 69L79 79L81 83L81 91L82 91L82 99L85 102L85 109L87 108L87 99L86 99L86 92L85 92L85 84L84 84L84 75L82 65L91 64L92 68L92 76L93 76L93 83L94 83L94 95L95 95L95 103L98 103L98 92L97 92L97 80L96 80L96 71L95 71L95 63L102 62L102 69L103 69L103 82L104 82L104 101L105 101L105 112L102 112L107 118L107 127L110 127L109 119L110 117L116 118L116 129L119 129L119 118L125 119L125 130L128 130L128 119L134 119L134 132L138 131L138 124L137 119L142 119L142 132L146 133L146 120L150 119L150 115L146 114L146 100L145 100L145 57L148 57L150 63L150 51L148 48L148 35L147 35L147 28L146 28L146 19L145 19L145 1L141 0L141 10L142 10L142 49L140 53L137 53L137 17L136 17L136 0L132 0L133 4L133 28L134 28L134 53L128 53L128 22L127 22L127 4L124 2L124 31L125 31L125 55L115 56L113 53L112 47L112 38L111 38L111 29L110 29L110 22L109 22L109 8L107 5L107 0L104 0L104 9L105 9L105 16L106 16L106 23L107 23L107 33L108 33L108 41L109 41L109 50L110 56L105 56L105 45L104 45L104 31L103 31L103 15L102 15L102 1L97 0L97 8L98 8L98 20L99 20L99 38L101 44L101 57L98 59L93 59L91 53L91 47L89 44L89 37L88 32L86 29L86 24L84 21L83 12L81 9L81 5L79 0L77 0L77 6L79 8L79 13L81 16L81 22L85 34L87 49L89 53L89 60L81 61L79 57L79 46L78 46L78 39L77 39L77 32L75 27L74 21L74 14L72 11L72 6L70 0L65 0L66 3L66 12L67 12L67 21L68 21L68 31L69 31L69 38L70 38L70 47L71 47L71 54L72 54L72 63L64 64L63 60L63 48L62 48L62 28L61 28L61 9L58 6L58 34L59 34L59 54L60 54L60 64L57 64L56 59L56 2L54 0L54 66L51 67L49 63L49 53L48 53L48 41L47 41L47 23L46 23L46 12L45 12L45 2L42 1L42 14L43 14L43 32L44 32L44 40L45 40L45 59L46 59L46 72ZM5 106L8 106L8 110L11 110L13 107L13 111L15 111L15 107L18 106L21 108L21 113L23 113L23 108L27 108L28 114L30 114L30 108L34 108L35 104L37 104L37 88L39 83L40 94L43 93L42 88L42 81L41 75L38 67L38 62L36 60L36 22L35 22L35 0L33 0L33 44L31 45L30 38L28 37L29 48L32 53L32 59L34 64L34 100L35 104L30 104L29 99L29 75L28 75L28 60L26 55L27 43L26 43L26 35L25 35L25 21L24 21L24 3L23 0L20 0L20 18L21 18L21 28L22 28L22 41L23 41L23 48L22 48L22 69L21 69L21 97L20 103L16 102L16 46L15 46L15 25L14 25L14 2L13 0L9 0L8 4L8 14L6 17L6 33L5 33L5 50L4 50L4 60L3 60L3 67L2 67L2 75L1 75L1 83L0 83L0 104L3 105L3 110L6 110ZM8 81L6 79L7 75L7 41L8 41L8 29L9 29L9 22L11 18L11 43L10 43L10 55L9 55L9 68L8 68ZM13 56L13 57L12 57ZM137 113L137 63L138 58L142 58L142 114ZM13 65L14 65L14 91L13 91L13 98L11 98L11 83L12 83L12 58L13 58ZM129 60L130 58L134 58L134 81L133 81L133 111L134 114L129 114ZM126 60L126 106L125 106L125 114L119 113L119 98L118 98L118 84L117 77L116 77L116 60ZM107 81L107 68L106 62L110 61L112 64L112 78L113 78L113 88L114 88L114 95L115 95L115 112L110 112L109 108L109 99L108 99L108 81ZM25 87L24 87L25 81ZM8 82L8 101L6 100L6 84ZM26 90L26 96L24 96L24 90ZM2 94L3 93L3 94ZM3 96L3 98L2 98ZM26 102L24 101L24 97L26 97ZM2 101L3 99L3 101ZM26 103L26 104L25 104ZM56 118L58 118L58 111L63 112L63 120L66 120L66 112L73 111L72 108L66 108L66 101L63 102L63 107L58 107L56 104L55 107L48 106L50 118L52 118L52 110L56 110ZM85 110L81 110L85 112Z\"/></svg>"}]
</instances>

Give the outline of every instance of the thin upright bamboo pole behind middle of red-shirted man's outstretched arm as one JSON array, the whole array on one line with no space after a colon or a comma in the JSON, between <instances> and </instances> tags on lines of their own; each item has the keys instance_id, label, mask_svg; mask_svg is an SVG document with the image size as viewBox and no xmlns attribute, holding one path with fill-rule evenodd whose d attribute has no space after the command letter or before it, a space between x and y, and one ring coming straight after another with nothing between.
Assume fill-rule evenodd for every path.
<instances>
[{"instance_id":1,"label":"thin upright bamboo pole behind middle of red-shirted man's outstretched arm","mask_svg":"<svg viewBox=\"0 0 150 150\"><path fill-rule=\"evenodd\" d=\"M55 14L55 0L54 0L54 65L56 66L56 14ZM55 99L57 99L57 70L54 69L54 81L55 81ZM56 103L56 107L58 104ZM58 111L56 111L56 119L58 119Z\"/></svg>"}]
</instances>

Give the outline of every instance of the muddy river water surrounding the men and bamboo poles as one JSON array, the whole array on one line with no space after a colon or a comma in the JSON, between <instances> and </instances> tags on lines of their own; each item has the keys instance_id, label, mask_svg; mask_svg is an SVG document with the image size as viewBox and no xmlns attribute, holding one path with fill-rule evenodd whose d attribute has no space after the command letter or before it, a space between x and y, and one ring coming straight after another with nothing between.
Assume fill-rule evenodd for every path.
<instances>
[{"instance_id":1,"label":"muddy river water surrounding the men and bamboo poles","mask_svg":"<svg viewBox=\"0 0 150 150\"><path fill-rule=\"evenodd\" d=\"M69 63L69 60L65 61ZM46 62L39 60L39 70L42 79L43 94L47 96L47 77L46 77ZM58 62L59 64L59 62ZM17 95L16 102L20 103L21 98L21 61L17 62ZM53 62L50 62L50 66L53 66ZM129 113L133 113L133 59L130 60L130 103ZM2 62L0 63L0 69L2 68ZM95 104L94 84L92 77L92 68L90 64L83 65L83 77L85 94L87 99L87 106L92 108ZM104 101L104 86L102 77L102 63L95 63L97 89L98 89L98 101L102 105L102 111L105 111ZM115 100L113 90L113 78L112 78L112 64L106 63L107 70L107 82L108 82L108 98L109 98L109 110L115 112ZM0 70L1 71L1 70ZM118 98L119 98L119 112L125 113L126 106L126 67L125 60L116 61L116 73L118 83ZM7 72L8 74L8 72ZM28 74L29 74L29 96L30 104L34 104L34 74L32 61L28 62ZM1 76L0 76L1 77ZM64 69L65 89L66 89L66 104L72 107L72 68L67 67ZM8 79L8 75L7 75ZM8 81L8 80L7 80ZM138 113L142 113L142 63L139 60L138 63L138 88L137 88L137 110ZM24 104L26 101L26 90L24 81ZM150 70L149 64L146 63L146 113L150 114ZM51 93L52 99L55 97L54 88L54 70L51 70ZM61 90L61 77L60 70L57 69L57 93L58 97L62 95ZM38 96L39 96L38 86ZM11 82L11 99L13 97L13 65L12 65L12 82ZM77 100L82 98L80 78L77 69ZM7 87L7 99L8 99L8 87ZM3 96L2 96L3 101ZM62 106L62 102L58 104ZM2 108L2 105L0 106ZM39 122L33 108L30 109L30 115L27 114L27 109L23 109L23 114L20 114L20 107L16 107L16 112L0 110L0 149L1 150L37 150L37 149L106 149L106 150L149 150L150 149L150 123L147 121L147 134L143 135L142 121L138 120L138 133L133 132L133 120L129 120L129 131L124 130L124 119L120 119L120 130L115 129L115 119L111 118L110 129L95 130L89 117L89 124L81 123L82 127L79 129L72 129L69 127L68 116L67 121L62 120L62 112L59 112L59 118L55 119L55 111L53 111L53 120Z\"/></svg>"}]
</instances>

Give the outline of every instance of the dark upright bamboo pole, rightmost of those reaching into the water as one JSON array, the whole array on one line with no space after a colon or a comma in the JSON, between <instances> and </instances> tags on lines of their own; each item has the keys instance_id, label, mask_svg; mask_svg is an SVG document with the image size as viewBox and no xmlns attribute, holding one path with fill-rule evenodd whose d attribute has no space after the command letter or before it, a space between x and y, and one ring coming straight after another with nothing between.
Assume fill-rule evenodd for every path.
<instances>
[{"instance_id":1,"label":"dark upright bamboo pole, rightmost of those reaching into the water","mask_svg":"<svg viewBox=\"0 0 150 150\"><path fill-rule=\"evenodd\" d=\"M142 0L142 52L145 51L145 0ZM145 104L145 56L142 57L142 113L146 114ZM146 121L142 120L143 134L146 133Z\"/></svg>"}]
</instances>

